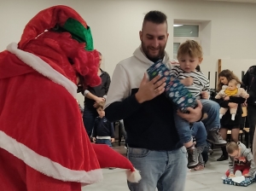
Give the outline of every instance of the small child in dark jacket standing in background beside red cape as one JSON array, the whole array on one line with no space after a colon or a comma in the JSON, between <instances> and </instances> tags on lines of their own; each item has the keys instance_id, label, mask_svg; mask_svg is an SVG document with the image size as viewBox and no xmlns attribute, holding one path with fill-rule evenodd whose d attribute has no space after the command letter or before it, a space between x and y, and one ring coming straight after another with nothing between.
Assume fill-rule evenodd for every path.
<instances>
[{"instance_id":1,"label":"small child in dark jacket standing in background beside red cape","mask_svg":"<svg viewBox=\"0 0 256 191\"><path fill-rule=\"evenodd\" d=\"M100 102L96 107L99 116L95 119L92 141L97 144L107 144L109 147L112 147L111 142L114 142L113 124L105 118L103 107L103 102Z\"/></svg>"}]
</instances>

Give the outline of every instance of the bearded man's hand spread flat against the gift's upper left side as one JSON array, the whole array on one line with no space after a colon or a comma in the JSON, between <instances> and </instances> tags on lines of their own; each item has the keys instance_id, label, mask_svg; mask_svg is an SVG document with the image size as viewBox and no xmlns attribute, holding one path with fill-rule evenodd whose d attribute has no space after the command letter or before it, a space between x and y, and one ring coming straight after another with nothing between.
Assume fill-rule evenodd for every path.
<instances>
[{"instance_id":1,"label":"bearded man's hand spread flat against the gift's upper left side","mask_svg":"<svg viewBox=\"0 0 256 191\"><path fill-rule=\"evenodd\" d=\"M158 81L159 79L160 76L157 76L149 81L147 74L144 73L144 77L140 84L139 90L135 94L135 97L139 103L152 100L154 97L159 96L165 91L166 78L162 78L160 81Z\"/></svg>"}]
</instances>

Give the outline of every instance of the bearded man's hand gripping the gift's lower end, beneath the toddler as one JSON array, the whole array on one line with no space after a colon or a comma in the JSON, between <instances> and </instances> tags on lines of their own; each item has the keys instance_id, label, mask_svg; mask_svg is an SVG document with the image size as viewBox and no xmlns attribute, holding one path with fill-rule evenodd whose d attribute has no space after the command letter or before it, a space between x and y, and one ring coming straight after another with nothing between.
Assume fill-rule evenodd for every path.
<instances>
[{"instance_id":1,"label":"bearded man's hand gripping the gift's lower end, beneath the toddler","mask_svg":"<svg viewBox=\"0 0 256 191\"><path fill-rule=\"evenodd\" d=\"M177 115L179 117L181 117L182 119L187 120L189 123L194 123L195 121L198 121L201 119L201 109L202 109L202 105L201 105L201 101L197 100L197 107L192 108L192 107L188 107L187 110L189 113L182 113L181 111L177 110Z\"/></svg>"}]
</instances>

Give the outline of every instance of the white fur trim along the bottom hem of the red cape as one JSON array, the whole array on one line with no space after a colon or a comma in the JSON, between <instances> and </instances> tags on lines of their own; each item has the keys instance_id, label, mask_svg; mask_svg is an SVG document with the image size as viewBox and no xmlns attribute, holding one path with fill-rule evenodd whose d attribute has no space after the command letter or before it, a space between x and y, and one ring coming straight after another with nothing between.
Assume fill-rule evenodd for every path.
<instances>
[{"instance_id":1,"label":"white fur trim along the bottom hem of the red cape","mask_svg":"<svg viewBox=\"0 0 256 191\"><path fill-rule=\"evenodd\" d=\"M74 171L35 153L32 149L27 148L24 144L17 142L14 138L6 135L0 130L0 148L12 153L18 159L23 160L26 165L43 173L48 177L65 182L82 182L91 184L102 180L102 170L93 171Z\"/></svg>"}]
</instances>

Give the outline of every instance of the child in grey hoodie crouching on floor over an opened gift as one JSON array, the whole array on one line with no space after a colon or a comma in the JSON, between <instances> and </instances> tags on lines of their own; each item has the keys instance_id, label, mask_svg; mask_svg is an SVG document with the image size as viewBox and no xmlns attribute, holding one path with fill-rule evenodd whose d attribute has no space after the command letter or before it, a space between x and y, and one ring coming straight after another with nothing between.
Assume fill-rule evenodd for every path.
<instances>
[{"instance_id":1,"label":"child in grey hoodie crouching on floor over an opened gift","mask_svg":"<svg viewBox=\"0 0 256 191\"><path fill-rule=\"evenodd\" d=\"M244 177L253 177L253 174L256 171L256 166L251 150L246 148L241 142L229 142L226 148L230 155L230 169L226 171L226 176L236 177L236 171L241 171L241 174Z\"/></svg>"}]
</instances>

